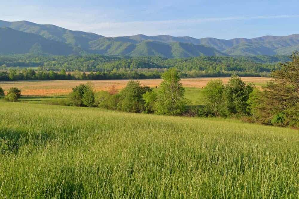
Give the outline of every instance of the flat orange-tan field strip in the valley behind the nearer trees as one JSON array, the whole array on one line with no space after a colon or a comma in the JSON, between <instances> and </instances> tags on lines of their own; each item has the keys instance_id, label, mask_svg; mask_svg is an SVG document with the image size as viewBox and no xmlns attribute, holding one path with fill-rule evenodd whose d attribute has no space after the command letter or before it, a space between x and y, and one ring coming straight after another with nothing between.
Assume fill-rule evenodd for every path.
<instances>
[{"instance_id":1,"label":"flat orange-tan field strip in the valley behind the nearer trees","mask_svg":"<svg viewBox=\"0 0 299 199\"><path fill-rule=\"evenodd\" d=\"M241 77L245 82L252 82L257 87L263 86L271 78L265 77ZM227 83L229 77L215 77L215 78L190 78L182 79L181 82L184 87L202 88L211 79L222 79L224 83ZM109 87L115 85L118 89L126 86L129 80L94 80L94 89L109 90ZM141 84L149 87L158 86L161 83L161 79L141 79L138 80ZM34 96L49 96L49 95L66 95L71 92L72 88L79 84L86 84L88 81L80 80L36 80L36 81L0 81L0 86L4 90L8 90L10 87L17 87L22 90L23 95Z\"/></svg>"}]
</instances>

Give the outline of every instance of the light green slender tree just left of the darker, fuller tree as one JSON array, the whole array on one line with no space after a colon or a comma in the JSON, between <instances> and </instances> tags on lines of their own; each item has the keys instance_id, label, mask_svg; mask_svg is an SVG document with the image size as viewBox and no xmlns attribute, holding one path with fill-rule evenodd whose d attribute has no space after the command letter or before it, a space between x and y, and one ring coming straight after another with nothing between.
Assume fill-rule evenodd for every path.
<instances>
[{"instance_id":1,"label":"light green slender tree just left of the darker, fuller tree","mask_svg":"<svg viewBox=\"0 0 299 199\"><path fill-rule=\"evenodd\" d=\"M221 115L223 111L222 95L224 88L222 80L216 79L209 81L202 91L208 111L213 112L216 117Z\"/></svg>"}]
</instances>

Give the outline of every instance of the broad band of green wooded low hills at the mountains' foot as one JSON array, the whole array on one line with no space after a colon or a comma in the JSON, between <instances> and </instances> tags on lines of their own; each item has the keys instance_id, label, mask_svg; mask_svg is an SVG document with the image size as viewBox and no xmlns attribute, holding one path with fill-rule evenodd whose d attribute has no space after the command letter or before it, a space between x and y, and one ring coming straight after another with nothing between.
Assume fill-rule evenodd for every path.
<instances>
[{"instance_id":1,"label":"broad band of green wooded low hills at the mountains' foot","mask_svg":"<svg viewBox=\"0 0 299 199\"><path fill-rule=\"evenodd\" d=\"M124 69L136 70L144 68L177 68L182 72L204 71L217 74L219 72L243 72L249 75L263 75L280 68L279 62L286 62L287 56L255 56L255 57L216 57L200 56L193 58L162 57L109 57L103 55L84 56L41 56L10 55L0 56L0 70L9 68L35 67L37 71L85 71L111 72Z\"/></svg>"}]
</instances>

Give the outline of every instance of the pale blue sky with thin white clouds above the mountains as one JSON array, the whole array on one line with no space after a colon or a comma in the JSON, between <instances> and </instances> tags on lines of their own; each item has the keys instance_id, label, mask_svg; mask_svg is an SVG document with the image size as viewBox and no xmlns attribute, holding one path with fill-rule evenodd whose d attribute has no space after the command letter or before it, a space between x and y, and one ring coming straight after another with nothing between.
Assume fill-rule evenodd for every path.
<instances>
[{"instance_id":1,"label":"pale blue sky with thin white clouds above the mountains","mask_svg":"<svg viewBox=\"0 0 299 199\"><path fill-rule=\"evenodd\" d=\"M103 36L254 38L299 33L296 0L10 0L0 20L54 24Z\"/></svg>"}]
</instances>

